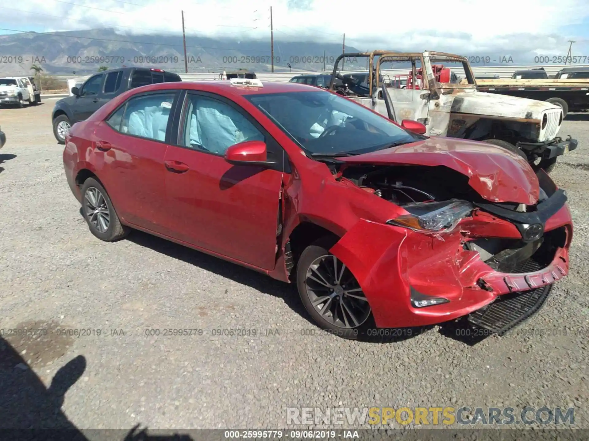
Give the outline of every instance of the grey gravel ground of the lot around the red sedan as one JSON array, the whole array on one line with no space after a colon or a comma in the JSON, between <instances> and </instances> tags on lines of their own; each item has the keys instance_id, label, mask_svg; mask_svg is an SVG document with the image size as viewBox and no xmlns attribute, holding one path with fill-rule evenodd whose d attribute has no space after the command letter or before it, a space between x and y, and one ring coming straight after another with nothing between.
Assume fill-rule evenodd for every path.
<instances>
[{"instance_id":1,"label":"grey gravel ground of the lot around the red sedan","mask_svg":"<svg viewBox=\"0 0 589 441\"><path fill-rule=\"evenodd\" d=\"M0 328L29 366L2 358L0 426L20 425L34 394L46 393L33 372L49 387L70 362L79 379L55 379L41 407L57 424L63 401L82 429L277 428L287 406L436 405L575 407L575 426L589 429L589 115L567 116L561 133L580 147L552 173L567 189L575 237L570 275L522 327L545 334L474 339L434 326L370 343L318 335L296 290L266 276L140 232L94 238L65 181L54 102L0 110ZM6 331L22 328L49 332ZM145 336L164 328L204 334ZM211 335L227 328L257 336Z\"/></svg>"}]
</instances>

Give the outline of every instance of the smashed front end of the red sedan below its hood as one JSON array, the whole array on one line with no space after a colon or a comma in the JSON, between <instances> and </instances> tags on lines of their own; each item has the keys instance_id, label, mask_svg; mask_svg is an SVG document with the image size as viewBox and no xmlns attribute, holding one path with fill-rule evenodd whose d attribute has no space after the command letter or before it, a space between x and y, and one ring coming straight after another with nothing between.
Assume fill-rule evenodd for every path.
<instances>
[{"instance_id":1,"label":"smashed front end of the red sedan below its hood","mask_svg":"<svg viewBox=\"0 0 589 441\"><path fill-rule=\"evenodd\" d=\"M566 193L542 170L534 178L537 196L508 202L483 198L446 166L346 166L339 179L405 213L360 220L330 252L358 279L379 328L468 316L504 333L537 312L569 269Z\"/></svg>"}]
</instances>

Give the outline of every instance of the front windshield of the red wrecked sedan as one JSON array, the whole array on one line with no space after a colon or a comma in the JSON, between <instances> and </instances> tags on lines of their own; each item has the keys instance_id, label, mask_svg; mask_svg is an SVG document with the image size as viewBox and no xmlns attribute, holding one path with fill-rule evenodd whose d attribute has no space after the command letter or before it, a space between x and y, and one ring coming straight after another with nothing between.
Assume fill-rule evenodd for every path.
<instances>
[{"instance_id":1,"label":"front windshield of the red wrecked sedan","mask_svg":"<svg viewBox=\"0 0 589 441\"><path fill-rule=\"evenodd\" d=\"M305 151L317 155L367 153L425 139L335 93L246 95Z\"/></svg>"}]
</instances>

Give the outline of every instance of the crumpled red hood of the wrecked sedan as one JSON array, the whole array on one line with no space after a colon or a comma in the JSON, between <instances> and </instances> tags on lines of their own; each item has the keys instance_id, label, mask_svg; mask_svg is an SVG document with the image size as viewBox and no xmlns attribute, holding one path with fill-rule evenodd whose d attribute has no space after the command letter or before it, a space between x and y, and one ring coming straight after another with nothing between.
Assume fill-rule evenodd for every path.
<instances>
[{"instance_id":1,"label":"crumpled red hood of the wrecked sedan","mask_svg":"<svg viewBox=\"0 0 589 441\"><path fill-rule=\"evenodd\" d=\"M349 164L444 165L468 176L469 185L491 202L534 205L540 193L538 178L524 158L485 142L436 136L337 159Z\"/></svg>"}]
</instances>

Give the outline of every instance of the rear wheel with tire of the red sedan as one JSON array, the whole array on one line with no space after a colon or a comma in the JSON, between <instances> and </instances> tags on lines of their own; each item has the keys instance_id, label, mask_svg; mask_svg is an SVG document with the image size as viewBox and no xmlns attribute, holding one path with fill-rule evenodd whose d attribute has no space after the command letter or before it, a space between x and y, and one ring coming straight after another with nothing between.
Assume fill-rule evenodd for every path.
<instances>
[{"instance_id":1,"label":"rear wheel with tire of the red sedan","mask_svg":"<svg viewBox=\"0 0 589 441\"><path fill-rule=\"evenodd\" d=\"M121 224L107 191L94 178L82 185L82 215L90 232L100 240L114 242L128 235L130 229Z\"/></svg>"}]
</instances>

